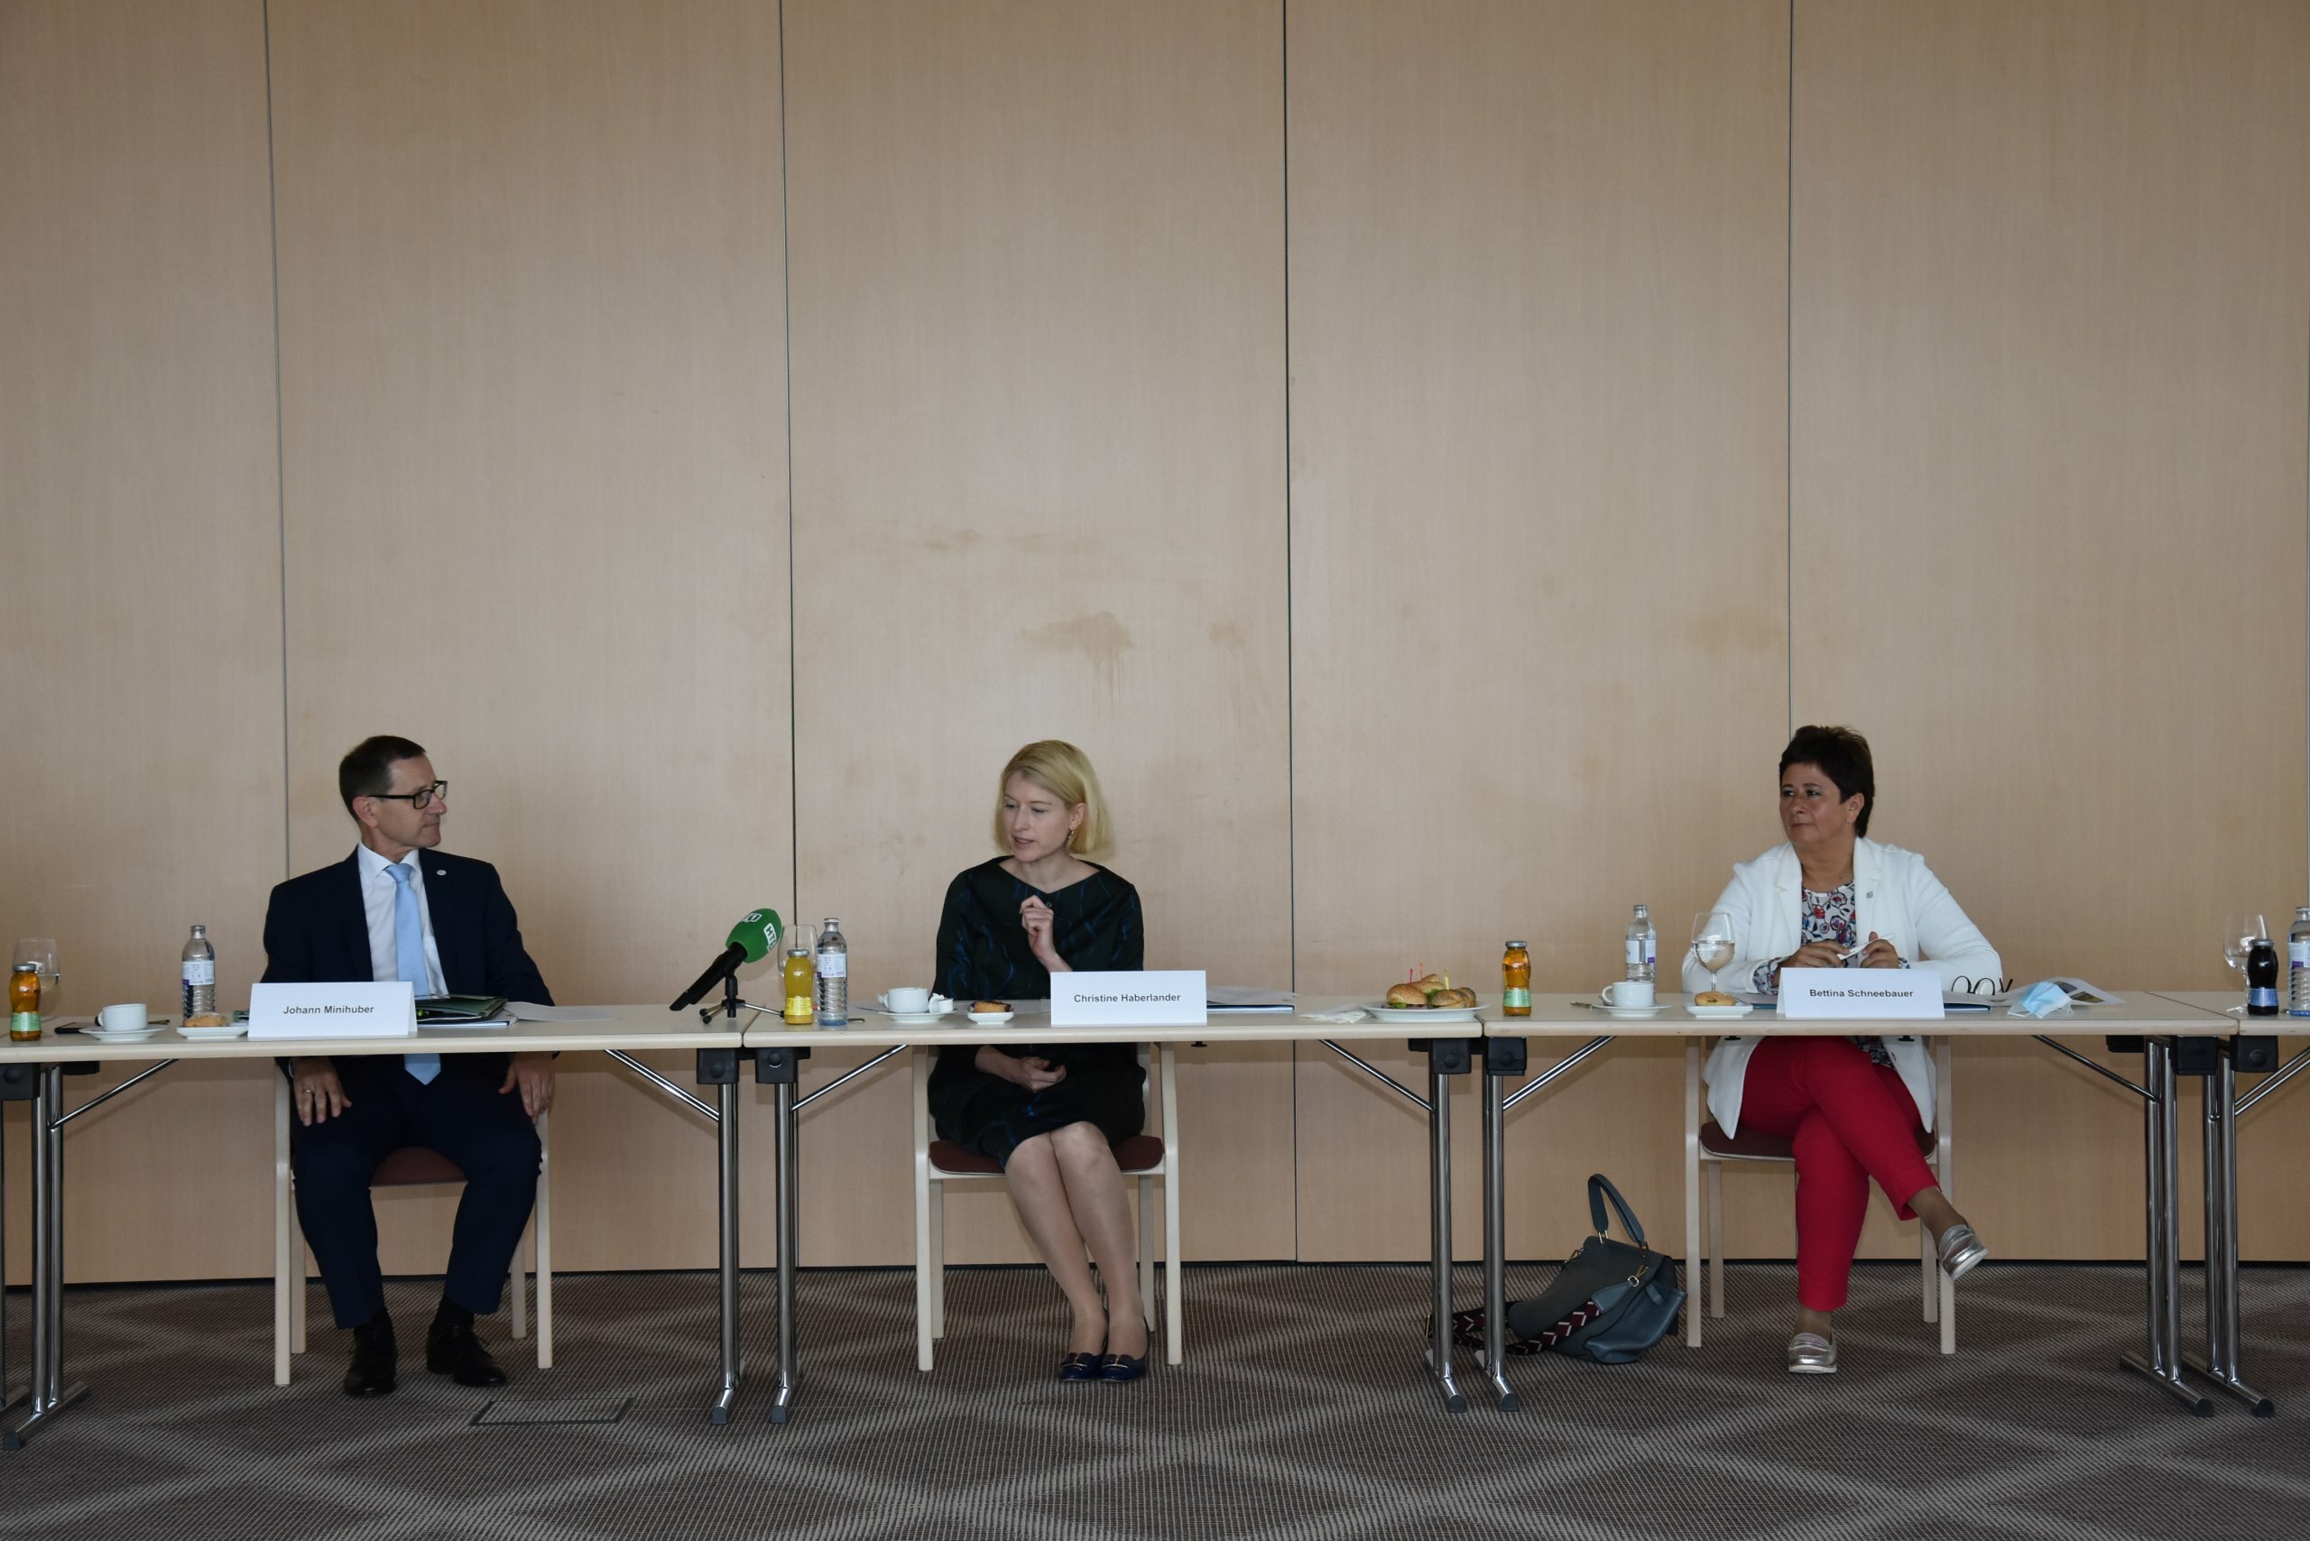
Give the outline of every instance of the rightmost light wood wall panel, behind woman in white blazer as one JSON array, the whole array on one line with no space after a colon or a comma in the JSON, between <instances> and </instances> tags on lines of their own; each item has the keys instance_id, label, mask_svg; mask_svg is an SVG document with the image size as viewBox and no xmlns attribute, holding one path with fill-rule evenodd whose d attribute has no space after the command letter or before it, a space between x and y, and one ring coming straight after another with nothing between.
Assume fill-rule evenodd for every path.
<instances>
[{"instance_id":1,"label":"rightmost light wood wall panel, behind woman in white blazer","mask_svg":"<svg viewBox=\"0 0 2310 1541\"><path fill-rule=\"evenodd\" d=\"M1795 60L1797 721L2007 973L2220 987L2303 894L2310 9L1802 2ZM2132 1109L2019 1047L1959 1088L1994 1245L2141 1255Z\"/></svg>"}]
</instances>

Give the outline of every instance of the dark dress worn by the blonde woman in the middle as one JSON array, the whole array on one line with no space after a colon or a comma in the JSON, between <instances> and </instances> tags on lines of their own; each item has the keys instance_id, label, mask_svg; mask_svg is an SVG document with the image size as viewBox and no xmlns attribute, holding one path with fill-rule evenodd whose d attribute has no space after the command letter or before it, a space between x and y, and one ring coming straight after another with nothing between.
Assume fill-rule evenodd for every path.
<instances>
[{"instance_id":1,"label":"dark dress worn by the blonde woman in the middle","mask_svg":"<svg viewBox=\"0 0 2310 1541\"><path fill-rule=\"evenodd\" d=\"M1051 906L1051 945L1076 970L1146 968L1139 889L1093 866L1081 883L1044 894L1003 871L1003 859L970 866L947 885L938 917L940 996L970 1000L1042 1000L1051 973L1035 959L1019 906L1035 894ZM998 1044L1012 1058L1065 1065L1056 1086L1030 1093L975 1065L977 1044L945 1044L931 1072L931 1118L940 1139L1009 1164L1035 1134L1093 1123L1106 1144L1123 1144L1146 1123L1146 1070L1132 1044Z\"/></svg>"}]
</instances>

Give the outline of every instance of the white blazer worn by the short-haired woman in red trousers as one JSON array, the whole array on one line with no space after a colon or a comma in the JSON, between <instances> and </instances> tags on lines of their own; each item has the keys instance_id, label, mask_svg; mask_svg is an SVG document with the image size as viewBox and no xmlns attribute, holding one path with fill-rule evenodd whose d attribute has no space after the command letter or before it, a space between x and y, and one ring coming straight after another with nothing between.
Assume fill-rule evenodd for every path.
<instances>
[{"instance_id":1,"label":"white blazer worn by the short-haired woman in red trousers","mask_svg":"<svg viewBox=\"0 0 2310 1541\"><path fill-rule=\"evenodd\" d=\"M1758 963L1786 959L1802 938L1804 869L1797 853L1781 843L1756 862L1732 869L1732 880L1716 899L1716 908L1732 917L1732 963L1719 970L1730 989L1751 989ZM1980 926L1950 899L1933 869L1915 850L1878 846L1876 841L1853 841L1853 926L1860 940L1871 931L1883 936L1908 959L1910 968L1931 968L1940 975L1940 987L1950 980L1996 977L2003 973L1998 950L1989 945ZM1684 954L1684 989L1709 987L1709 970ZM1924 1127L1933 1127L1933 1060L1924 1042L1913 1035L1887 1035L1880 1040L1901 1084L1917 1102ZM1739 1130L1742 1081L1749 1074L1749 1056L1756 1054L1756 1037L1728 1037L1709 1054L1709 1114L1726 1134Z\"/></svg>"}]
</instances>

